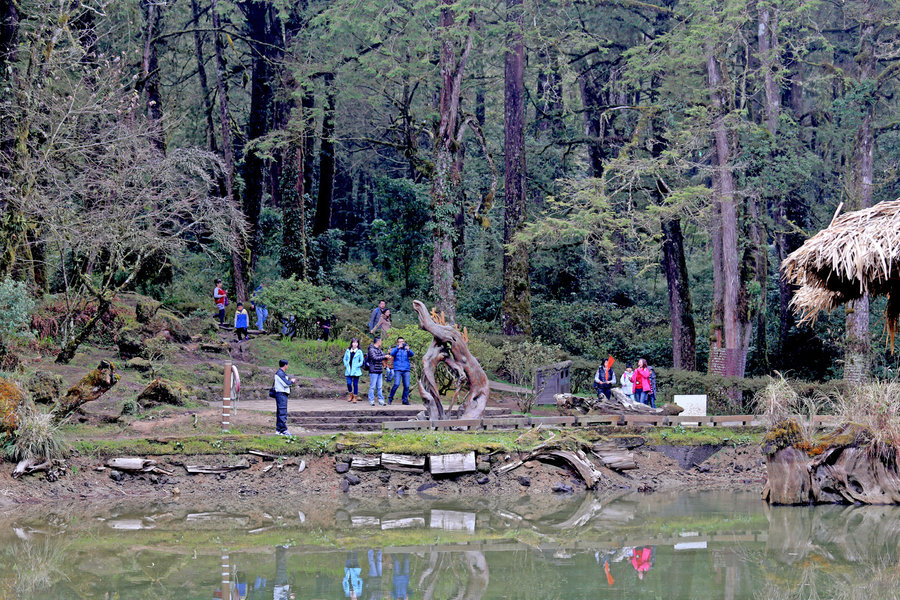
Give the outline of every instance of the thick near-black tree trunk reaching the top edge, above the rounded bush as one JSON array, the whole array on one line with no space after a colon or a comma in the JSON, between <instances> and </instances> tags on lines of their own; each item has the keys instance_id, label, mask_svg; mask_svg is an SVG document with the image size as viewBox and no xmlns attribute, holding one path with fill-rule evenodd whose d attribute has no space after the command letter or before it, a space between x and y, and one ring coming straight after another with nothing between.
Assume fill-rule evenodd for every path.
<instances>
[{"instance_id":1,"label":"thick near-black tree trunk reaching the top edge, above the rounded bush","mask_svg":"<svg viewBox=\"0 0 900 600\"><path fill-rule=\"evenodd\" d=\"M270 15L268 2L254 0L246 4L247 27L252 52L252 68L250 78L250 118L247 123L247 141L253 142L269 132L271 123L274 92L272 90L272 49L281 42L273 35L274 26L271 20L277 15ZM244 158L244 202L243 212L247 219L247 250L250 253L248 276L253 272L259 259L259 215L262 212L263 188L267 169L263 157L253 144Z\"/></svg>"}]
</instances>

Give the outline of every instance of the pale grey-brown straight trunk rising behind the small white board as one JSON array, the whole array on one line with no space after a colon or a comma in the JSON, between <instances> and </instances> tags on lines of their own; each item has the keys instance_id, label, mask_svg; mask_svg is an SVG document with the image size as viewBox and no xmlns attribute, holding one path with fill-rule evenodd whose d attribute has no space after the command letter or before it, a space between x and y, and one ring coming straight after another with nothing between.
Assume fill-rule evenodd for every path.
<instances>
[{"instance_id":1,"label":"pale grey-brown straight trunk rising behind the small white board","mask_svg":"<svg viewBox=\"0 0 900 600\"><path fill-rule=\"evenodd\" d=\"M715 179L720 229L717 235L722 239L722 284L725 355L724 375L743 377L747 361L745 335L746 313L740 311L741 271L738 254L738 215L735 201L734 176L731 172L731 143L725 124L725 102L719 86L722 83L719 65L715 56L709 53L706 60L710 99L713 108L713 142L715 147Z\"/></svg>"}]
</instances>

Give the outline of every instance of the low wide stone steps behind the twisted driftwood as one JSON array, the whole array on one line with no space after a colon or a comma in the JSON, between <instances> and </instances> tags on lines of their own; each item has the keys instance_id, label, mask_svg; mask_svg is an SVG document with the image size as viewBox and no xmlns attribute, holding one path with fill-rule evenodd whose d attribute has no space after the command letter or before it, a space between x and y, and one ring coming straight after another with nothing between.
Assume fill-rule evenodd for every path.
<instances>
[{"instance_id":1,"label":"low wide stone steps behind the twisted driftwood","mask_svg":"<svg viewBox=\"0 0 900 600\"><path fill-rule=\"evenodd\" d=\"M359 404L357 404L359 406ZM381 431L386 421L408 421L422 411L421 405L397 409L371 407L368 403L360 408L347 410L289 410L288 427L300 427L316 431ZM486 417L502 417L510 414L508 408L487 408Z\"/></svg>"}]
</instances>

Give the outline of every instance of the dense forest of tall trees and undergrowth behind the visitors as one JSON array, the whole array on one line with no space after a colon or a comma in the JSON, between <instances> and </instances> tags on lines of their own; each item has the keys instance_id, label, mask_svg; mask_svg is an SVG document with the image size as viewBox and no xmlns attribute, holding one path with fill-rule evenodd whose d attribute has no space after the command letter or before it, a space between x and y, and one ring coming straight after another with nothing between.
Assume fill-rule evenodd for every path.
<instances>
[{"instance_id":1,"label":"dense forest of tall trees and undergrowth behind the visitors","mask_svg":"<svg viewBox=\"0 0 900 600\"><path fill-rule=\"evenodd\" d=\"M339 330L421 299L589 361L893 378L884 298L801 324L779 265L898 197L898 74L897 0L0 0L0 354L221 277Z\"/></svg>"}]
</instances>

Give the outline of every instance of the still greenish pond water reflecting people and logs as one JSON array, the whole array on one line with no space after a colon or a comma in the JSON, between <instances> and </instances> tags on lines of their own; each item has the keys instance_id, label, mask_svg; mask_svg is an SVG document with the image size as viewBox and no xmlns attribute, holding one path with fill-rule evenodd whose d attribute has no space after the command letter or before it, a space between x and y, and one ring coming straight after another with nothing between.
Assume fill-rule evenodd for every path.
<instances>
[{"instance_id":1,"label":"still greenish pond water reflecting people and logs","mask_svg":"<svg viewBox=\"0 0 900 600\"><path fill-rule=\"evenodd\" d=\"M757 494L0 514L0 599L900 598L900 508Z\"/></svg>"}]
</instances>

